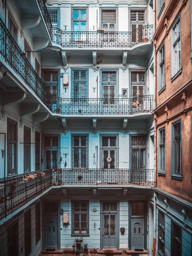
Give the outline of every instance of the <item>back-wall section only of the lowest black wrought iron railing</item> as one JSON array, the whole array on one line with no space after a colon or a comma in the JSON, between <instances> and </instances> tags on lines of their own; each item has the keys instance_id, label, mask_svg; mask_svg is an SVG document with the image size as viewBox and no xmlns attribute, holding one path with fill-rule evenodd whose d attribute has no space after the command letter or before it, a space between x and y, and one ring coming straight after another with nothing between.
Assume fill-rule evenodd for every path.
<instances>
[{"instance_id":1,"label":"back-wall section only of the lowest black wrought iron railing","mask_svg":"<svg viewBox=\"0 0 192 256\"><path fill-rule=\"evenodd\" d=\"M59 169L53 171L52 185L153 187L154 169Z\"/></svg>"}]
</instances>

